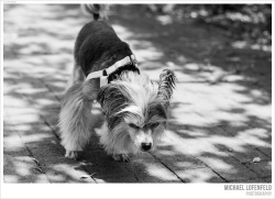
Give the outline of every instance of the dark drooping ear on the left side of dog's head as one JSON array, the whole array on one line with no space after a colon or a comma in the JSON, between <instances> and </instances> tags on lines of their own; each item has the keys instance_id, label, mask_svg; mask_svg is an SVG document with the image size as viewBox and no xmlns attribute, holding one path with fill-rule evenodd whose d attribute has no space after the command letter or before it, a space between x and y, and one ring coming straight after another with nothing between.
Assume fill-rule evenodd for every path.
<instances>
[{"instance_id":1,"label":"dark drooping ear on the left side of dog's head","mask_svg":"<svg viewBox=\"0 0 275 199\"><path fill-rule=\"evenodd\" d=\"M129 100L121 85L109 84L99 89L97 101L109 117L127 107Z\"/></svg>"}]
</instances>

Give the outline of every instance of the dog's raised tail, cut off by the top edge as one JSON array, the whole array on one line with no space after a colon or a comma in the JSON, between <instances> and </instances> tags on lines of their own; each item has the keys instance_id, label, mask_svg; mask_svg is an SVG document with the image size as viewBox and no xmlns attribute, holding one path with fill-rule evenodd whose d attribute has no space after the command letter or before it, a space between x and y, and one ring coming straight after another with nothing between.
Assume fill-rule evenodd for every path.
<instances>
[{"instance_id":1,"label":"dog's raised tail, cut off by the top edge","mask_svg":"<svg viewBox=\"0 0 275 199\"><path fill-rule=\"evenodd\" d=\"M86 15L92 15L94 20L108 20L108 4L81 4L81 10Z\"/></svg>"}]
</instances>

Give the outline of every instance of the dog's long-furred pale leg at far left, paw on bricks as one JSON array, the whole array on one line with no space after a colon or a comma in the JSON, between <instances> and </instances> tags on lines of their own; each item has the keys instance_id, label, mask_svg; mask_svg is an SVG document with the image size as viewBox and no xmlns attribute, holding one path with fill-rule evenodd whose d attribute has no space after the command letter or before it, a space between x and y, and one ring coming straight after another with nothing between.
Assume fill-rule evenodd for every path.
<instances>
[{"instance_id":1,"label":"dog's long-furred pale leg at far left, paw on bricks","mask_svg":"<svg viewBox=\"0 0 275 199\"><path fill-rule=\"evenodd\" d=\"M82 85L70 87L62 101L58 125L65 156L68 158L77 158L90 139L91 102L82 96Z\"/></svg>"}]
</instances>

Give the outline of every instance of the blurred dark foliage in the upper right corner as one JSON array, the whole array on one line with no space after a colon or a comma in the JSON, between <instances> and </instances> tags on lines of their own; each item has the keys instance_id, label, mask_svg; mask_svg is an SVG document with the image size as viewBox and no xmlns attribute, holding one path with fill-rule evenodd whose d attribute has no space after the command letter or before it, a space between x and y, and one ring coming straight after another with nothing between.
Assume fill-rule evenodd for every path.
<instances>
[{"instance_id":1,"label":"blurred dark foliage in the upper right corner","mask_svg":"<svg viewBox=\"0 0 275 199\"><path fill-rule=\"evenodd\" d=\"M272 4L146 4L153 16L169 15L176 21L206 25L234 40L271 45Z\"/></svg>"}]
</instances>

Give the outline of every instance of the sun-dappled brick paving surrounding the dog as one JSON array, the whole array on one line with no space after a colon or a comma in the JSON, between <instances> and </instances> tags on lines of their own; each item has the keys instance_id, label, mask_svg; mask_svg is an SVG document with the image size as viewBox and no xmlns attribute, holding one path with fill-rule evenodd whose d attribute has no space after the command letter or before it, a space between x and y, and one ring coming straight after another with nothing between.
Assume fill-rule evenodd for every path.
<instances>
[{"instance_id":1,"label":"sun-dappled brick paving surrounding the dog","mask_svg":"<svg viewBox=\"0 0 275 199\"><path fill-rule=\"evenodd\" d=\"M73 161L56 124L74 41L90 18L74 4L7 4L3 20L4 183L272 181L271 52L139 5L112 7L110 23L141 70L177 76L168 128L156 151L130 163L112 161L95 134Z\"/></svg>"}]
</instances>

